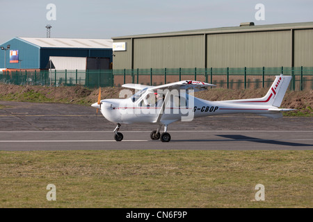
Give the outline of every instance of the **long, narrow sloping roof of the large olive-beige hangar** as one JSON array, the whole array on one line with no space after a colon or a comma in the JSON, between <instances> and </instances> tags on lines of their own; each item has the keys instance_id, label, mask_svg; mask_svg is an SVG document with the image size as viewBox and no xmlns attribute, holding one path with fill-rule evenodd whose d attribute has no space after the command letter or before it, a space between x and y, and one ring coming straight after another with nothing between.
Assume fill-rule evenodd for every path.
<instances>
[{"instance_id":1,"label":"long, narrow sloping roof of the large olive-beige hangar","mask_svg":"<svg viewBox=\"0 0 313 222\"><path fill-rule=\"evenodd\" d=\"M112 37L113 40L122 40L127 38L140 38L140 37L161 37L161 36L175 36L175 35L199 35L210 33L235 33L235 32L248 32L248 31L275 31L287 29L300 29L300 28L313 28L313 22L299 22L299 23L286 23L286 24L268 24L260 26L232 26L222 28L205 28L187 31L174 31L168 33L154 33L145 35L127 35L120 37Z\"/></svg>"}]
</instances>

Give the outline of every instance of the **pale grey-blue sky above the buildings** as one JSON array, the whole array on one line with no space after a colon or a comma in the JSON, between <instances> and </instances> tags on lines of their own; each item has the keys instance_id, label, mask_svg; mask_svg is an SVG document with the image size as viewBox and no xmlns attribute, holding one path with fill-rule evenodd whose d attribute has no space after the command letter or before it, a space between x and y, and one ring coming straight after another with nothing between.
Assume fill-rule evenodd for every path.
<instances>
[{"instance_id":1,"label":"pale grey-blue sky above the buildings","mask_svg":"<svg viewBox=\"0 0 313 222\"><path fill-rule=\"evenodd\" d=\"M55 10L47 9L49 3ZM263 12L255 9L258 3ZM47 24L51 37L111 39L241 22L313 22L312 0L0 0L0 8L0 44L13 37L46 37Z\"/></svg>"}]
</instances>

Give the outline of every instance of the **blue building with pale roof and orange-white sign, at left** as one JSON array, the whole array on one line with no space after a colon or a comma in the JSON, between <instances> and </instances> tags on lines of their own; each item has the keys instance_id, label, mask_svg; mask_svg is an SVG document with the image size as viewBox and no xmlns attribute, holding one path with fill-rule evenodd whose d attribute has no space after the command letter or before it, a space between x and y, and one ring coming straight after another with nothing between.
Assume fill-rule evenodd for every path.
<instances>
[{"instance_id":1,"label":"blue building with pale roof and orange-white sign, at left","mask_svg":"<svg viewBox=\"0 0 313 222\"><path fill-rule=\"evenodd\" d=\"M56 69L110 69L113 54L113 40L103 39L14 37L0 46L6 69L47 69L49 60Z\"/></svg>"}]
</instances>

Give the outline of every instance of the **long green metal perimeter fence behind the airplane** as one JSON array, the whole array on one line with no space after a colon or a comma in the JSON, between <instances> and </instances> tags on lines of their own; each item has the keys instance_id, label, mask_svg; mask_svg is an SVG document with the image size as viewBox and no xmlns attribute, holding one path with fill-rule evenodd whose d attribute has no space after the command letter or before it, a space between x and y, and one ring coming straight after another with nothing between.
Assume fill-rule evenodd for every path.
<instances>
[{"instance_id":1,"label":"long green metal perimeter fence behind the airplane","mask_svg":"<svg viewBox=\"0 0 313 222\"><path fill-rule=\"evenodd\" d=\"M289 90L313 89L313 67L243 67L108 70L15 70L0 72L0 83L14 85L74 86L88 88L121 86L125 83L162 85L179 80L199 80L228 89L270 87L275 76L292 76Z\"/></svg>"}]
</instances>

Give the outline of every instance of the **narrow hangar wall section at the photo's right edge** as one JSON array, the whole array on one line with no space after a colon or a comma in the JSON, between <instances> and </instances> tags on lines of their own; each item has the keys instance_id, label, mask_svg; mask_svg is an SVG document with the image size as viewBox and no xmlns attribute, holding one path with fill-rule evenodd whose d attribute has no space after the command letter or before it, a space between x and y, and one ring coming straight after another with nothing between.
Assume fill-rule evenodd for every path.
<instances>
[{"instance_id":1,"label":"narrow hangar wall section at the photo's right edge","mask_svg":"<svg viewBox=\"0 0 313 222\"><path fill-rule=\"evenodd\" d=\"M294 66L313 67L313 29L294 31Z\"/></svg>"}]
</instances>

